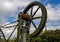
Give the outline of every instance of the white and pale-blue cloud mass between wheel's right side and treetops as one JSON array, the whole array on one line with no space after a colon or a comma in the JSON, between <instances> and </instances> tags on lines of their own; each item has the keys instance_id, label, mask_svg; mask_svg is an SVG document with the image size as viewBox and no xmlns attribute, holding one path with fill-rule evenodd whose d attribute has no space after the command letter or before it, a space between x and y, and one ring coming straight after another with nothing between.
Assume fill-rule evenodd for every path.
<instances>
[{"instance_id":1,"label":"white and pale-blue cloud mass between wheel's right side and treetops","mask_svg":"<svg viewBox=\"0 0 60 42\"><path fill-rule=\"evenodd\" d=\"M47 19L47 29L55 30L60 28L60 4L53 7L53 5L48 4L46 6L48 19Z\"/></svg>"}]
</instances>

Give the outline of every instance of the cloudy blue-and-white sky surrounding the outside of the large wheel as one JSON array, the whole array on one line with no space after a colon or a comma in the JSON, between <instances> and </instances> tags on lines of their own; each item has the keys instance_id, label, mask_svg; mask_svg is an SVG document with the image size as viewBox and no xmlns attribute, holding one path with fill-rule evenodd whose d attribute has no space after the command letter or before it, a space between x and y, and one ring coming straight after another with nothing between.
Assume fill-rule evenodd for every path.
<instances>
[{"instance_id":1,"label":"cloudy blue-and-white sky surrounding the outside of the large wheel","mask_svg":"<svg viewBox=\"0 0 60 42\"><path fill-rule=\"evenodd\" d=\"M0 0L0 25L17 20L18 13L33 1L39 1L47 9L46 28L48 30L60 29L60 0ZM3 29L3 31L7 36L12 29Z\"/></svg>"}]
</instances>

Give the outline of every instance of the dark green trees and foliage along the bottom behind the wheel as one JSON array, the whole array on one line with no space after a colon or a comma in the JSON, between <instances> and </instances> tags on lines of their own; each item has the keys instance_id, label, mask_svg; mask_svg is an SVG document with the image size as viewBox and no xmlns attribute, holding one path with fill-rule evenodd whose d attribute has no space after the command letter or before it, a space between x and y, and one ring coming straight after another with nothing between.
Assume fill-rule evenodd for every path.
<instances>
[{"instance_id":1,"label":"dark green trees and foliage along the bottom behind the wheel","mask_svg":"<svg viewBox=\"0 0 60 42\"><path fill-rule=\"evenodd\" d=\"M0 39L0 42L4 42ZM10 39L9 42L16 42L16 38ZM31 38L31 42L60 42L60 30L43 31L38 37Z\"/></svg>"}]
</instances>

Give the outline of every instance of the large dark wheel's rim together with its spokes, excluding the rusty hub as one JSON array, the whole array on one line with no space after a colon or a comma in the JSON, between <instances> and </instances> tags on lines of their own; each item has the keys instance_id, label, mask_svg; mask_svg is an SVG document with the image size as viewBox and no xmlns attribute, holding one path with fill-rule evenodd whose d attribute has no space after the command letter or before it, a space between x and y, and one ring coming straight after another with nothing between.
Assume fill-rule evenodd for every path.
<instances>
[{"instance_id":1,"label":"large dark wheel's rim together with its spokes, excluding the rusty hub","mask_svg":"<svg viewBox=\"0 0 60 42\"><path fill-rule=\"evenodd\" d=\"M38 6L37 10L33 13L32 15L32 12L33 12L33 7L34 6ZM39 23L39 26L36 27L34 22L32 22L32 24L34 25L35 28L37 28L32 34L30 34L30 37L35 37L37 36L38 34L41 33L41 31L43 30L44 26L45 26L45 23L46 23L46 20L47 20L47 11L46 11L46 8L40 3L40 2L32 2L30 3L26 8L25 10L23 11L23 13L27 13L29 11L29 9L31 8L31 13L30 13L30 17L32 17L31 19L31 22L33 19L38 19L38 18L41 18L41 21ZM42 11L42 17L36 17L36 18L33 18L34 15L37 13L37 11L39 10L39 8L41 8L41 11ZM30 22L30 23L31 23Z\"/></svg>"}]
</instances>

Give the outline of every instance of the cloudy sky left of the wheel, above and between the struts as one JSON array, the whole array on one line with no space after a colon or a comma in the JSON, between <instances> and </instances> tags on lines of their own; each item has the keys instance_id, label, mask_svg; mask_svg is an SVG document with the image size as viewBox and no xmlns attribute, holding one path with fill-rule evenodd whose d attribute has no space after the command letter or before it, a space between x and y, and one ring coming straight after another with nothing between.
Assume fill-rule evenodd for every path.
<instances>
[{"instance_id":1,"label":"cloudy sky left of the wheel, above and between the struts","mask_svg":"<svg viewBox=\"0 0 60 42\"><path fill-rule=\"evenodd\" d=\"M0 25L4 25L11 21L17 20L18 13L32 1L39 0L0 0ZM5 36L8 37L13 29L2 30ZM16 32L13 35L16 36Z\"/></svg>"}]
</instances>

